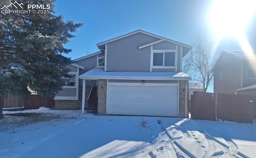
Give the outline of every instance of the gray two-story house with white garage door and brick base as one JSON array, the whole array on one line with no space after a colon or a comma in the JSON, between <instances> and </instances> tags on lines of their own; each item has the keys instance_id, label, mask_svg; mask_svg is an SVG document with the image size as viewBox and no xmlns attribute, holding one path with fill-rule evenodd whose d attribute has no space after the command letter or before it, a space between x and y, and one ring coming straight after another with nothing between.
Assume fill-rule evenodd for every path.
<instances>
[{"instance_id":1,"label":"gray two-story house with white garage door and brick base","mask_svg":"<svg viewBox=\"0 0 256 158\"><path fill-rule=\"evenodd\" d=\"M188 117L191 77L182 72L182 58L190 45L138 30L97 46L100 52L69 67L76 86L64 86L55 98L56 109Z\"/></svg>"}]
</instances>

